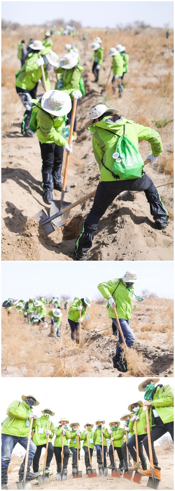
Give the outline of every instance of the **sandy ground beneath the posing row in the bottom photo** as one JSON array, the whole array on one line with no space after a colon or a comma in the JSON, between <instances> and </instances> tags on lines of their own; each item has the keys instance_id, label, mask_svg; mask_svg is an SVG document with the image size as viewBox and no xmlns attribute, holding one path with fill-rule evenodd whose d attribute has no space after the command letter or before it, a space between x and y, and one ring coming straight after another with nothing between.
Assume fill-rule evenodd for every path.
<instances>
[{"instance_id":1,"label":"sandy ground beneath the posing row in the bottom photo","mask_svg":"<svg viewBox=\"0 0 175 491\"><path fill-rule=\"evenodd\" d=\"M84 452L82 451L84 454ZM173 481L173 453L167 453L165 450L160 449L159 447L156 447L156 454L158 456L159 460L159 465L161 467L161 481L159 483L159 490L172 490L174 489L174 481ZM21 463L22 459L20 460ZM44 457L40 459L40 464L42 465L44 463ZM11 464L13 465L13 468L17 465L19 465L19 460L17 456L13 456ZM12 467L12 465L10 466ZM109 457L107 457L107 465L110 464ZM82 470L82 478L81 479L73 479L72 476L72 460L69 459L69 464L68 464L68 475L67 475L67 480L61 482L56 481L56 464L55 460L53 457L53 460L50 464L50 470L54 472L52 476L50 476L50 481L49 484L43 485L39 489L45 489L45 490L50 490L50 489L68 489L68 490L137 490L138 486L139 489L146 490L147 488L147 482L148 482L148 477L142 477L141 483L135 484L133 483L133 477L131 481L128 481L127 479L124 479L123 476L118 478L112 478L111 477L111 469L108 469L108 475L107 477L99 477L99 472L98 472L98 465L97 465L97 458L93 457L92 458L92 467L93 469L96 468L97 470L97 477L93 479L89 479L88 476L85 473L85 465L84 465L84 457L80 457L79 461L79 470ZM16 481L18 481L18 470L17 471L11 471L10 474L8 474L8 489L13 490L16 489ZM38 486L32 486L33 489L38 489Z\"/></svg>"}]
</instances>

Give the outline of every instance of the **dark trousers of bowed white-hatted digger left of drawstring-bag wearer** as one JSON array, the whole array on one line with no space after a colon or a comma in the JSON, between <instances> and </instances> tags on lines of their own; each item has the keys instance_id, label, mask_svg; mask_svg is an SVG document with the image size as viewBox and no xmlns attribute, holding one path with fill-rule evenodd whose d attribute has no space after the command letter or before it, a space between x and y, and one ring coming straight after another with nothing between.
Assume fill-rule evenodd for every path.
<instances>
[{"instance_id":1,"label":"dark trousers of bowed white-hatted digger left of drawstring-bag wearer","mask_svg":"<svg viewBox=\"0 0 175 491\"><path fill-rule=\"evenodd\" d=\"M41 143L41 158L43 190L52 191L57 185L61 184L61 169L63 163L63 147L58 147L56 143Z\"/></svg>"}]
</instances>

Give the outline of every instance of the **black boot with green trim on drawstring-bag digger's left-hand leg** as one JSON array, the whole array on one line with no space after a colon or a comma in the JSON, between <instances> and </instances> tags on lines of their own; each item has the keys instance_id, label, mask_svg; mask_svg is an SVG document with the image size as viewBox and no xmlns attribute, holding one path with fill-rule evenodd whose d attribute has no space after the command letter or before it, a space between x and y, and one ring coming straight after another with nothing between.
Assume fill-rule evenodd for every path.
<instances>
[{"instance_id":1,"label":"black boot with green trim on drawstring-bag digger's left-hand leg","mask_svg":"<svg viewBox=\"0 0 175 491\"><path fill-rule=\"evenodd\" d=\"M76 261L87 261L87 251L92 247L94 232L97 230L97 225L92 226L86 221L83 222L82 232L76 239L75 257Z\"/></svg>"}]
</instances>

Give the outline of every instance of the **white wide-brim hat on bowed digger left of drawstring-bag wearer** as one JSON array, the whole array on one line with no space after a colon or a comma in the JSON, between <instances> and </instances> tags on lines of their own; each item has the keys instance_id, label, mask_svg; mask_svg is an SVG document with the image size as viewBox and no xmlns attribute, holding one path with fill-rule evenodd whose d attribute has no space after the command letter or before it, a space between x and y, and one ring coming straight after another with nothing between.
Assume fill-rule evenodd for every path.
<instances>
[{"instance_id":1,"label":"white wide-brim hat on bowed digger left of drawstring-bag wearer","mask_svg":"<svg viewBox=\"0 0 175 491\"><path fill-rule=\"evenodd\" d=\"M66 92L47 90L41 99L41 107L53 116L65 116L72 109L72 102Z\"/></svg>"}]
</instances>

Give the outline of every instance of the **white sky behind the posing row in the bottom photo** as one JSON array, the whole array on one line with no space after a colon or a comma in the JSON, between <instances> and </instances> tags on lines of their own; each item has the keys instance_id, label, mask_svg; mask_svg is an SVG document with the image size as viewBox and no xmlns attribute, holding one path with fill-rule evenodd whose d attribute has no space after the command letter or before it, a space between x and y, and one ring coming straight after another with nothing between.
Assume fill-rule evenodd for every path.
<instances>
[{"instance_id":1,"label":"white sky behind the posing row in the bottom photo","mask_svg":"<svg viewBox=\"0 0 175 491\"><path fill-rule=\"evenodd\" d=\"M27 393L33 394L40 402L39 406L33 408L32 412L36 416L41 416L41 411L49 405L50 409L55 412L55 416L51 417L54 426L58 425L60 418L67 418L70 423L78 421L80 431L84 430L84 425L89 422L94 424L100 419L104 419L105 425L109 429L111 420L120 420L121 416L128 409L129 404L135 401L144 401L144 392L139 392L138 385L146 380L143 377L138 378L107 378L107 390L105 378L23 378L18 377L13 379L1 379L1 390L5 394L1 398L1 421L6 417L6 409L14 400L21 401L22 395ZM166 385L169 383L174 386L174 380L160 378L158 383ZM58 390L59 388L59 390ZM86 389L88 390L88 398L86 399ZM61 398L61 394L65 396ZM112 399L110 397L112 394ZM78 404L75 403L78 397ZM121 422L122 424L122 422ZM69 425L68 425L69 426ZM53 437L52 443L55 436ZM15 453L19 454L24 450L21 446L15 447ZM82 452L84 454L84 452Z\"/></svg>"}]
</instances>

